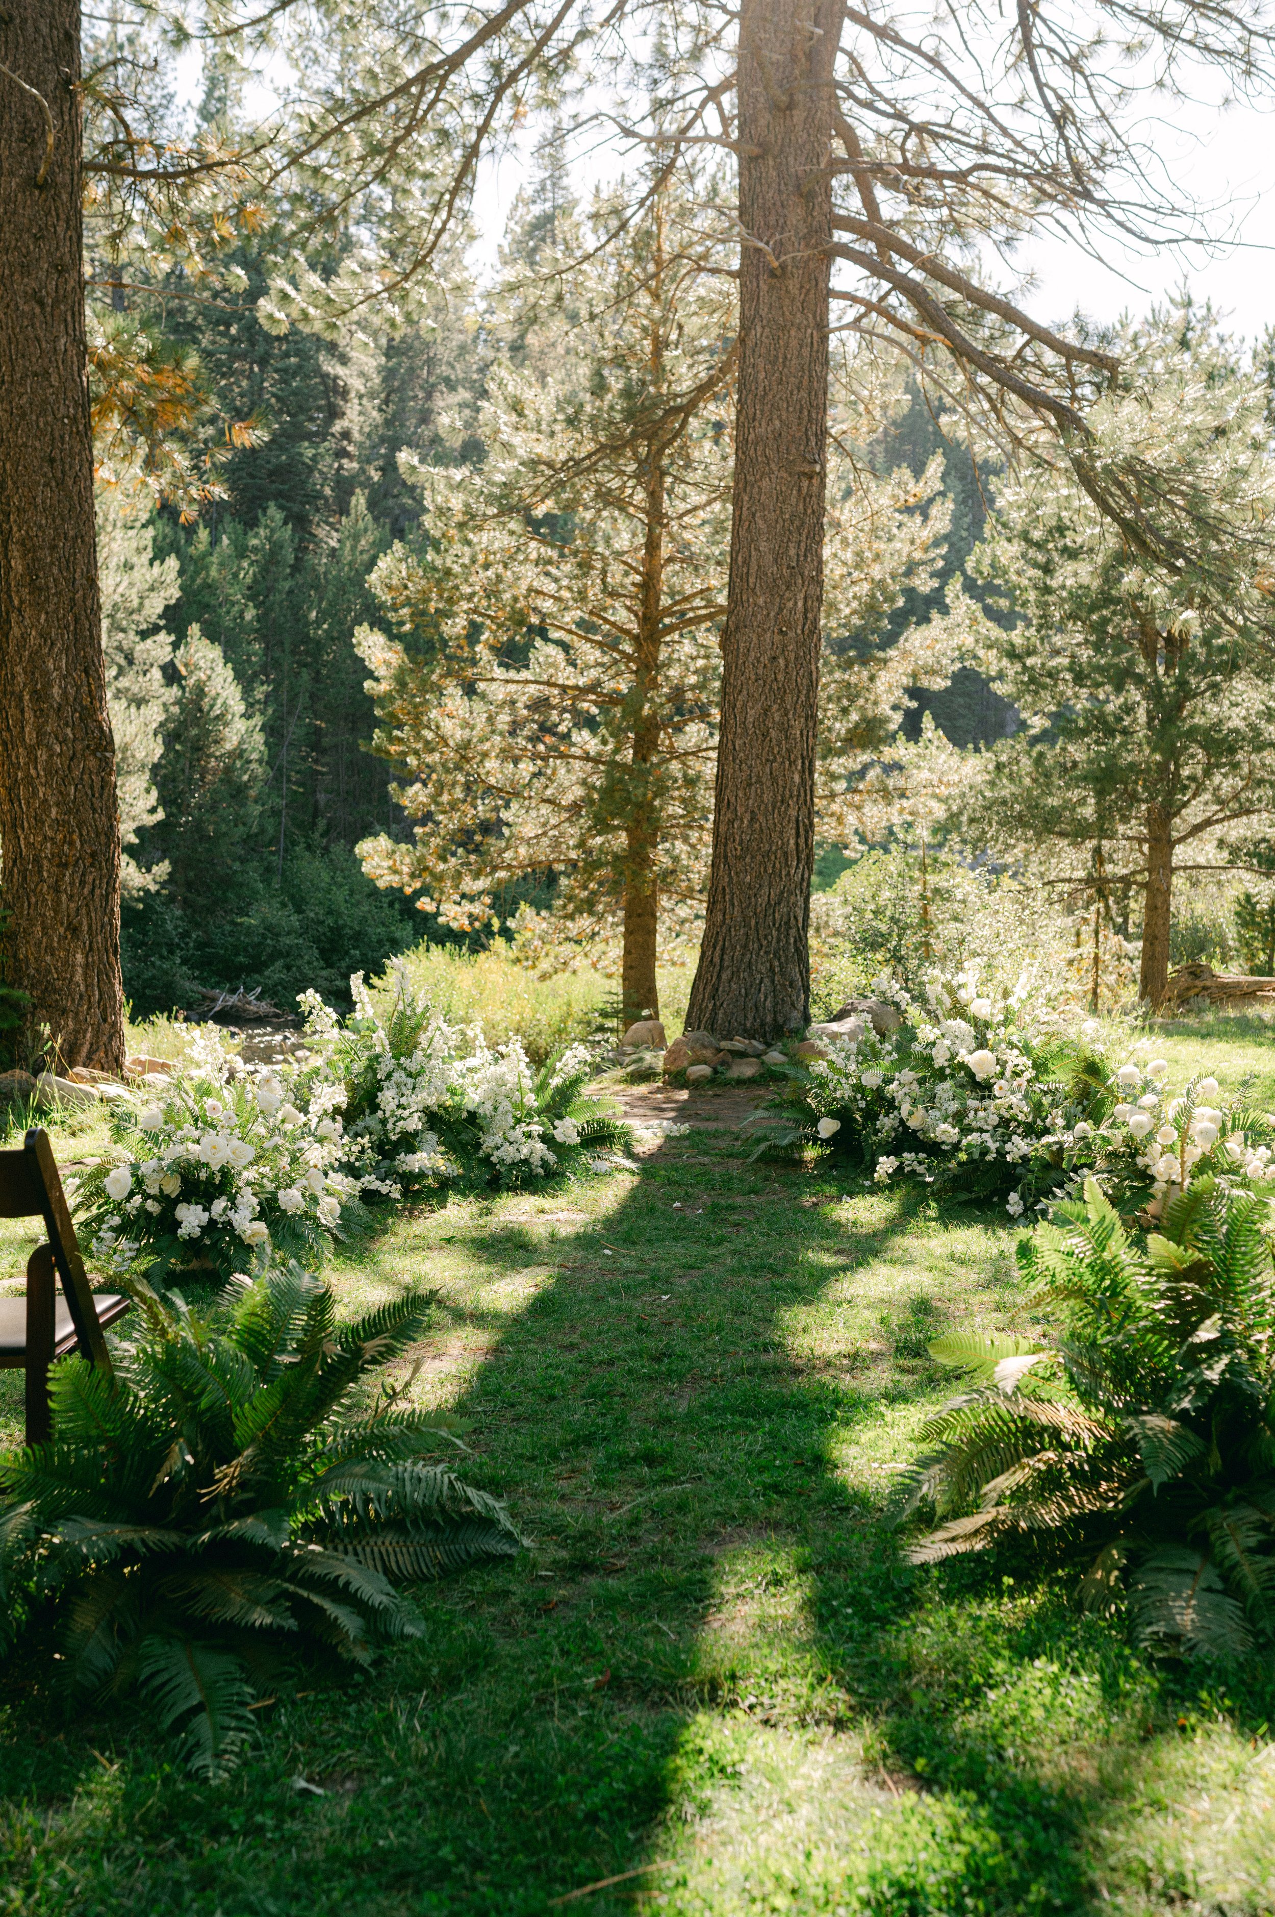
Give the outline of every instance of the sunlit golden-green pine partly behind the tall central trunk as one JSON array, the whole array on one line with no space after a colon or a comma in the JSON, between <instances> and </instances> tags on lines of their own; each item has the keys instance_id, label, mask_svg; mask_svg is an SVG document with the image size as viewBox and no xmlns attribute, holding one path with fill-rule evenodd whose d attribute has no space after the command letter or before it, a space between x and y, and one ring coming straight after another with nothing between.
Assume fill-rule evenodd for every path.
<instances>
[{"instance_id":1,"label":"sunlit golden-green pine partly behind the tall central trunk","mask_svg":"<svg viewBox=\"0 0 1275 1917\"><path fill-rule=\"evenodd\" d=\"M360 640L418 820L410 845L360 845L368 872L464 928L502 886L552 876L562 918L623 926L627 1016L658 1010L660 926L700 920L711 834L734 314L690 215L665 192L623 265L575 276L569 322L520 332L527 370L491 376L483 464L418 470L429 548L374 575L403 638ZM934 635L884 644L941 558L938 468L834 479L830 794L895 730L907 684L949 671Z\"/></svg>"}]
</instances>

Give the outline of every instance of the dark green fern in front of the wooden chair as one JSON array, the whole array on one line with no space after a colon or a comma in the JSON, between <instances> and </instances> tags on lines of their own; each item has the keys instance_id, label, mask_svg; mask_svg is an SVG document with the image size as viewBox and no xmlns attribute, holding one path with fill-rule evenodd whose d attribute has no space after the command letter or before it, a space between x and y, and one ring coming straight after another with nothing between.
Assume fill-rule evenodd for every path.
<instances>
[{"instance_id":1,"label":"dark green fern in front of the wooden chair","mask_svg":"<svg viewBox=\"0 0 1275 1917\"><path fill-rule=\"evenodd\" d=\"M397 1587L518 1549L502 1505L426 1453L441 1422L368 1373L418 1334L426 1300L337 1325L299 1267L236 1284L199 1319L136 1282L115 1376L52 1376L54 1438L0 1459L0 1614L54 1606L81 1691L138 1687L192 1767L242 1746L255 1685L303 1647L366 1664L418 1635ZM456 1442L456 1440L451 1440Z\"/></svg>"}]
</instances>

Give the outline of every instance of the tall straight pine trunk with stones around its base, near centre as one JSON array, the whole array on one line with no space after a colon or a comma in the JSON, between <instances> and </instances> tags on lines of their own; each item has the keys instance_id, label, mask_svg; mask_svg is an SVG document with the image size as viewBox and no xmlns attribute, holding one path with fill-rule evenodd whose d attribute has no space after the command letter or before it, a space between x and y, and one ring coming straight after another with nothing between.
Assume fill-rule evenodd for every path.
<instances>
[{"instance_id":1,"label":"tall straight pine trunk with stones around its base, near centre","mask_svg":"<svg viewBox=\"0 0 1275 1917\"><path fill-rule=\"evenodd\" d=\"M742 0L740 355L713 866L688 1028L809 1016L840 0Z\"/></svg>"}]
</instances>

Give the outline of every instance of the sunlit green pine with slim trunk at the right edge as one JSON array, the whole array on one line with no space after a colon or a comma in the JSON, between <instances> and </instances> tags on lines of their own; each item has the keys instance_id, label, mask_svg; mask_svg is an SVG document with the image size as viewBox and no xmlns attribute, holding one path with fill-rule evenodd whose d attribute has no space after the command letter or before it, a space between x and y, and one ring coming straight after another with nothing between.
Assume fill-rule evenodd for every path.
<instances>
[{"instance_id":1,"label":"sunlit green pine with slim trunk at the right edge","mask_svg":"<svg viewBox=\"0 0 1275 1917\"><path fill-rule=\"evenodd\" d=\"M1016 625L985 625L993 682L1028 715L972 820L987 843L1055 863L1095 853L1143 893L1141 997L1170 960L1173 874L1225 870L1275 805L1275 462L1265 391L1208 312L1160 316L1125 343L1147 391L1095 406L1093 458L1156 475L1137 510L1150 564L1068 468L1001 487L976 577ZM1269 826L1267 826L1269 830Z\"/></svg>"}]
</instances>

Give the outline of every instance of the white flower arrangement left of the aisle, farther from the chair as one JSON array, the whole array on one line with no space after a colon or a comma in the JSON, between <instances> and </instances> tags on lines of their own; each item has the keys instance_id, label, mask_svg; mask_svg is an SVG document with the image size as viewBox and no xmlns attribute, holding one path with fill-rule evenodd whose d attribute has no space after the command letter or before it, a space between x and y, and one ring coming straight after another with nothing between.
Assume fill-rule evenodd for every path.
<instances>
[{"instance_id":1,"label":"white flower arrangement left of the aisle, farther from the chair","mask_svg":"<svg viewBox=\"0 0 1275 1917\"><path fill-rule=\"evenodd\" d=\"M520 1185L627 1143L627 1127L583 1097L594 1070L587 1045L537 1072L518 1039L493 1049L477 1028L433 1014L401 970L383 1018L362 974L351 993L345 1026L314 993L303 1008L322 1060L314 1074L345 1083L345 1167L364 1192Z\"/></svg>"}]
</instances>

